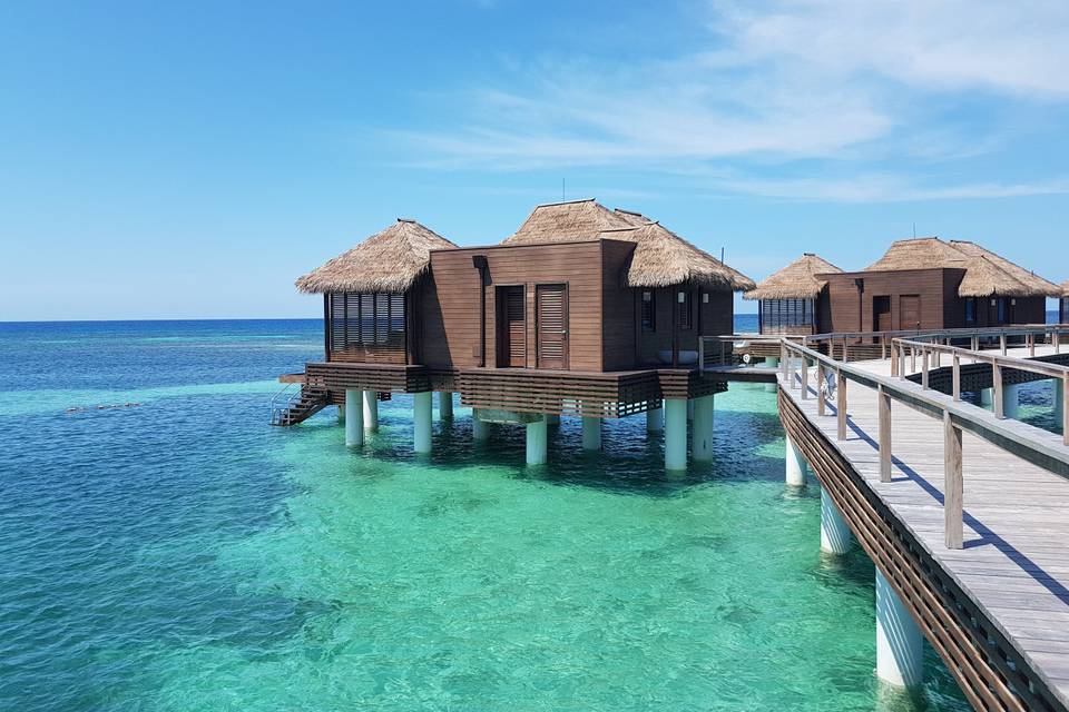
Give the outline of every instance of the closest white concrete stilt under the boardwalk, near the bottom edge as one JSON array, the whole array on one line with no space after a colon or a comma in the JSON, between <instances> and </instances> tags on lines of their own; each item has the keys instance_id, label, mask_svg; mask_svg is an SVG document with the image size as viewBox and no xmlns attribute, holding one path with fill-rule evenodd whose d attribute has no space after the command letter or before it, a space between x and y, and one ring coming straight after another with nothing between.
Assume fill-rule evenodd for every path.
<instances>
[{"instance_id":1,"label":"closest white concrete stilt under the boardwalk, near the bottom edge","mask_svg":"<svg viewBox=\"0 0 1069 712\"><path fill-rule=\"evenodd\" d=\"M876 570L876 676L896 688L924 680L924 640L909 611Z\"/></svg>"}]
</instances>

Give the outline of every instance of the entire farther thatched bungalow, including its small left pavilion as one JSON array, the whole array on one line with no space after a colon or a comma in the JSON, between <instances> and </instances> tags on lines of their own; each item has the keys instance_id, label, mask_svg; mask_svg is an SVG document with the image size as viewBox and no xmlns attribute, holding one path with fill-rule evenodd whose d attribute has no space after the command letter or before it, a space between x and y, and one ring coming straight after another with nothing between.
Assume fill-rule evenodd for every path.
<instances>
[{"instance_id":1,"label":"entire farther thatched bungalow, including its small left pavilion","mask_svg":"<svg viewBox=\"0 0 1069 712\"><path fill-rule=\"evenodd\" d=\"M1062 289L975 243L898 240L862 271L805 255L745 295L762 334L894 332L1042 324ZM767 309L767 312L766 312Z\"/></svg>"}]
</instances>

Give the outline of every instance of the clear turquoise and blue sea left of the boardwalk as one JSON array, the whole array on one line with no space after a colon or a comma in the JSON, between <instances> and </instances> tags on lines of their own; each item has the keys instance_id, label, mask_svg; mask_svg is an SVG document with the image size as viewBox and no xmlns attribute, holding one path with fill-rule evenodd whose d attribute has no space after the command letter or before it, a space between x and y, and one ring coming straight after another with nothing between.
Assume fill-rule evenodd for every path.
<instances>
[{"instance_id":1,"label":"clear turquoise and blue sea left of the boardwalk","mask_svg":"<svg viewBox=\"0 0 1069 712\"><path fill-rule=\"evenodd\" d=\"M531 469L465 408L418 458L398 398L354 453L333 413L266 425L320 339L0 324L4 708L880 709L872 564L818 554L772 394L717 396L717 462L681 478L641 416L600 455L566 418ZM890 706L967 709L928 669Z\"/></svg>"}]
</instances>

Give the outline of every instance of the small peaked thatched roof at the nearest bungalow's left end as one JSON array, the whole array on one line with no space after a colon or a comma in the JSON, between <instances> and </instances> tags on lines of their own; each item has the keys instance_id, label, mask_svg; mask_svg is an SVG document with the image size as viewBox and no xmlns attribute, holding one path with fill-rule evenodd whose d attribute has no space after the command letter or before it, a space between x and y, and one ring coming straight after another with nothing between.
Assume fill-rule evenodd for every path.
<instances>
[{"instance_id":1,"label":"small peaked thatched roof at the nearest bungalow's left end","mask_svg":"<svg viewBox=\"0 0 1069 712\"><path fill-rule=\"evenodd\" d=\"M301 291L405 291L426 271L432 249L457 247L415 220L386 229L297 279Z\"/></svg>"}]
</instances>

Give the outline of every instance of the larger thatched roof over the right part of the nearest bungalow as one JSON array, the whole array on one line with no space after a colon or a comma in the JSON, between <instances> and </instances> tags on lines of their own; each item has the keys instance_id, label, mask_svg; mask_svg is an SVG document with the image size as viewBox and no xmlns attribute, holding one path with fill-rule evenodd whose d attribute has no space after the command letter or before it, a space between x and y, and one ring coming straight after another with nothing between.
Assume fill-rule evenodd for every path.
<instances>
[{"instance_id":1,"label":"larger thatched roof over the right part of the nearest bungalow","mask_svg":"<svg viewBox=\"0 0 1069 712\"><path fill-rule=\"evenodd\" d=\"M716 289L752 289L754 280L639 212L609 210L596 200L540 205L503 245L616 239L636 243L628 287L683 283Z\"/></svg>"}]
</instances>

